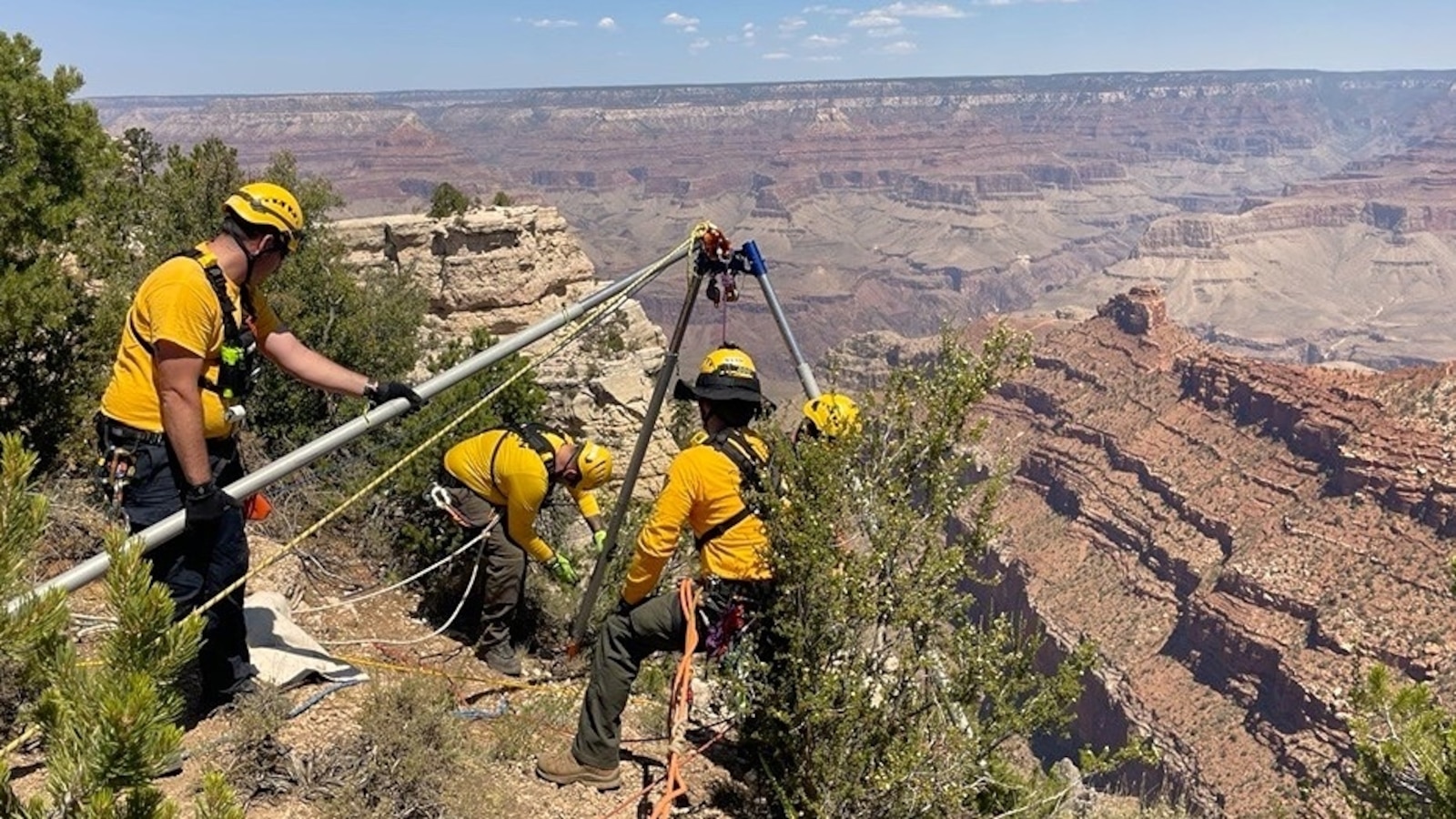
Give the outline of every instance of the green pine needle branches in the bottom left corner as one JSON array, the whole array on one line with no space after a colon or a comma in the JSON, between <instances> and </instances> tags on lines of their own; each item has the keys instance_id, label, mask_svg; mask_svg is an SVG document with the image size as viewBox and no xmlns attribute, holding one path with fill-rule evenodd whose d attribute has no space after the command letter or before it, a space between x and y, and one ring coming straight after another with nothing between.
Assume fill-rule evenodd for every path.
<instances>
[{"instance_id":1,"label":"green pine needle branches in the bottom left corner","mask_svg":"<svg viewBox=\"0 0 1456 819\"><path fill-rule=\"evenodd\" d=\"M166 589L151 583L124 533L112 532L106 608L116 627L83 659L66 632L66 597L29 595L28 555L47 514L31 482L35 463L20 436L0 436L0 599L23 600L13 612L0 608L0 691L7 694L0 707L12 714L0 730L10 743L4 756L22 736L39 736L47 768L45 794L22 800L0 756L0 815L175 816L151 778L182 749L173 681L197 656L202 621L192 615L173 624ZM31 726L25 734L22 724ZM236 809L220 781L204 790L198 816L237 815L229 813Z\"/></svg>"}]
</instances>

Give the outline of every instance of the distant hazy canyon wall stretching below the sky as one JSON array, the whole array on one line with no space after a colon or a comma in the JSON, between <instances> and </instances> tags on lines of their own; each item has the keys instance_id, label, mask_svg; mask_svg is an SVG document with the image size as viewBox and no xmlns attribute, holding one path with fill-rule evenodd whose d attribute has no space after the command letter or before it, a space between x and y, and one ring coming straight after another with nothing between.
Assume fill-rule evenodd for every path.
<instances>
[{"instance_id":1,"label":"distant hazy canyon wall stretching below the sky","mask_svg":"<svg viewBox=\"0 0 1456 819\"><path fill-rule=\"evenodd\" d=\"M422 211L441 181L483 201L504 191L549 203L607 275L709 219L763 249L811 358L853 332L1089 312L1147 281L1210 340L1392 366L1456 357L1444 325L1418 338L1386 326L1392 315L1405 326L1415 316L1399 313L1430 293L1382 287L1358 299L1361 275L1396 268L1383 258L1338 267L1334 239L1286 236L1358 226L1449 243L1450 208L1421 192L1446 189L1456 169L1441 147L1456 122L1453 83L1453 71L1184 71L95 103L118 134L217 136L253 166L288 150L333 181L355 216ZM1392 156L1428 168L1392 171ZM1325 201L1258 207L1312 189ZM1271 233L1275 224L1286 227ZM1306 259L1337 274L1316 281ZM1421 259L1440 281L1444 258ZM668 283L641 297L660 325L677 313ZM1271 307L1246 309L1251 300ZM1281 300L1299 309L1270 321ZM1341 335L1356 319L1372 324ZM773 332L751 297L728 319L729 338ZM702 310L686 356L722 335L721 316ZM764 356L763 369L792 389L785 357Z\"/></svg>"}]
</instances>

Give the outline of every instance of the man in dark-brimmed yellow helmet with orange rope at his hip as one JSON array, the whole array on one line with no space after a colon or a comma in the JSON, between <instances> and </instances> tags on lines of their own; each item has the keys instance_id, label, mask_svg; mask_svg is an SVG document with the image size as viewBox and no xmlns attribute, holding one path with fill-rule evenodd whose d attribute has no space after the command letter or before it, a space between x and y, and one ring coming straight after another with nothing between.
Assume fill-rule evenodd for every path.
<instances>
[{"instance_id":1,"label":"man in dark-brimmed yellow helmet with orange rope at his hip","mask_svg":"<svg viewBox=\"0 0 1456 819\"><path fill-rule=\"evenodd\" d=\"M673 459L638 535L622 599L601 624L591 654L591 682L571 751L536 762L536 774L556 784L622 785L617 751L632 682L644 660L681 648L687 634L677 595L651 596L684 526L696 538L699 616L709 630L734 603L761 609L772 592L769 535L743 493L744 481L756 482L769 459L763 439L748 430L764 408L753 360L737 347L721 347L703 358L693 385L678 380L673 395L697 401L706 439Z\"/></svg>"}]
</instances>

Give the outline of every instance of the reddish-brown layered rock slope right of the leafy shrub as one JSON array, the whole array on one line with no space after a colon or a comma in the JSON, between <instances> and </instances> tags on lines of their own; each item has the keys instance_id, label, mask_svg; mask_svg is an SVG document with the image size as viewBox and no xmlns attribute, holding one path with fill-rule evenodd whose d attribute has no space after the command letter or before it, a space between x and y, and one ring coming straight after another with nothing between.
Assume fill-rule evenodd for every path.
<instances>
[{"instance_id":1,"label":"reddish-brown layered rock slope right of the leafy shrub","mask_svg":"<svg viewBox=\"0 0 1456 819\"><path fill-rule=\"evenodd\" d=\"M1166 315L1137 289L1013 322L1035 363L976 410L1013 465L983 602L1096 641L1080 739L1162 753L1124 784L1204 816L1345 815L1351 685L1385 663L1456 695L1450 370L1249 360ZM871 377L929 348L855 347Z\"/></svg>"}]
</instances>

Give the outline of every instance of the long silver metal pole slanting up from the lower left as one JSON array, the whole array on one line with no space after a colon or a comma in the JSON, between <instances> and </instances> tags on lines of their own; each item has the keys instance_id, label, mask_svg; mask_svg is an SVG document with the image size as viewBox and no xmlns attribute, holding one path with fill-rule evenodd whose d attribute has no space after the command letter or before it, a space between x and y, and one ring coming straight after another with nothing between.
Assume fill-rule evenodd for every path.
<instances>
[{"instance_id":1,"label":"long silver metal pole slanting up from the lower left","mask_svg":"<svg viewBox=\"0 0 1456 819\"><path fill-rule=\"evenodd\" d=\"M671 267L673 262L677 262L684 256L687 256L687 251L690 248L692 242L683 242L681 245L678 245L676 251L662 256L657 262L644 267L642 270L633 273L632 275L620 281L607 284L606 287L597 290L591 296L587 296L584 300L578 302L577 305L572 305L571 307L566 307L565 310L556 313L555 316L545 319L539 324L534 324L523 329L521 332L517 332L515 335L511 335L510 338L499 341L495 345L472 356L470 358L460 361L454 367L450 367L448 370L419 383L415 388L415 392L418 392L419 396L425 399L430 399L437 393L444 392L446 389L473 376L475 373L480 372L489 364L494 364L501 358L505 358L511 353L517 353L524 347L550 335L556 329L581 318L582 315L587 313L587 310L604 303L613 296L617 296L619 293L632 289L639 280L645 281L648 278L655 277L657 274ZM381 404L374 410L370 410L368 412L360 415L358 418L354 418L352 421L348 421L339 427L335 427L332 431L313 439L312 442L300 446L298 449L290 452L288 455L284 455L282 458L269 462L256 472L250 472L245 475L242 479L229 484L223 491L226 491L229 495L234 498L248 497L262 490L264 487L274 484L280 478L284 478L307 466L309 463L313 463L319 458L342 447L344 444L352 442L354 439L363 436L364 433L368 433L397 418L399 415L403 415L408 408L409 408L409 401L405 398L396 398L393 401ZM178 536L182 532L182 525L185 522L186 522L186 514L182 512L176 512L159 520L157 523L147 526L141 532L137 532L132 538L141 539L143 544L141 549L143 552L147 552ZM66 592L74 592L82 586L86 586L87 583L100 579L103 574L106 574L108 568L111 568L109 555L106 555L105 552L93 555L76 564L74 567L63 571L61 574L57 574L51 580L41 583L39 586L31 590L31 595L42 595L52 589L64 589ZM13 612L23 599L25 596L10 600L7 603L9 611Z\"/></svg>"}]
</instances>

